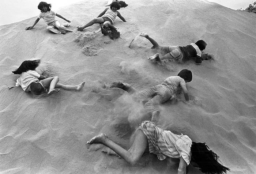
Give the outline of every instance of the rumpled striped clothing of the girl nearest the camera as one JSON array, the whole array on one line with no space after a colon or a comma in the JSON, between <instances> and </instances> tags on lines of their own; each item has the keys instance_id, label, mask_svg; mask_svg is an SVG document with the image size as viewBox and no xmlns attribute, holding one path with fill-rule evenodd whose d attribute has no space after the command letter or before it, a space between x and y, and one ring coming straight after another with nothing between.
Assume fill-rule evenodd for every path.
<instances>
[{"instance_id":1,"label":"rumpled striped clothing of the girl nearest the camera","mask_svg":"<svg viewBox=\"0 0 256 174\"><path fill-rule=\"evenodd\" d=\"M139 129L147 136L149 152L157 155L159 160L164 160L166 156L182 156L187 164L190 163L192 140L187 135L162 130L150 121L142 122Z\"/></svg>"}]
</instances>

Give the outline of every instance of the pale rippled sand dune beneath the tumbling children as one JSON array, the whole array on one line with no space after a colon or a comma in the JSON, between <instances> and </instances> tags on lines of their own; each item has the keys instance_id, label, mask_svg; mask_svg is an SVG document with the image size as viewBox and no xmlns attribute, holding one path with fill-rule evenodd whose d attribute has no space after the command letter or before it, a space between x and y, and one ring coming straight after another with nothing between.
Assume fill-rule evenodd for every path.
<instances>
[{"instance_id":1,"label":"pale rippled sand dune beneath the tumbling children","mask_svg":"<svg viewBox=\"0 0 256 174\"><path fill-rule=\"evenodd\" d=\"M136 166L102 153L103 145L86 145L99 133L128 148L143 106L122 90L102 89L111 82L138 90L189 69L192 101L183 94L159 106L158 126L206 142L232 174L256 171L256 14L235 11L201 0L127 0L117 18L121 37L93 35L99 24L83 32L76 26L98 16L107 1L83 1L57 13L71 20L66 35L46 30L36 17L0 26L0 172L3 173L177 173L178 160L160 161L145 154ZM50 2L49 2L50 3ZM36 7L35 7L36 8ZM39 13L39 10L38 10ZM62 19L59 19L64 23ZM154 63L157 53L140 37L148 33L160 45L185 46L203 39L216 61ZM130 48L129 44L132 42ZM160 53L161 54L161 53ZM41 58L38 72L48 70L60 83L86 82L81 91L60 90L35 97L14 86L11 71L24 60ZM188 173L200 171L192 166Z\"/></svg>"}]
</instances>

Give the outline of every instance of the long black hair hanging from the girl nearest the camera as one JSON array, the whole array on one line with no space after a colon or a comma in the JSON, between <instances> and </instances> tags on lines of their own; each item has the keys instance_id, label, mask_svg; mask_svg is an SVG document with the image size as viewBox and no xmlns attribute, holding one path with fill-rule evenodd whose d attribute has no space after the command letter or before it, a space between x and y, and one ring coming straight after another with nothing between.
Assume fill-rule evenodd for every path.
<instances>
[{"instance_id":1,"label":"long black hair hanging from the girl nearest the camera","mask_svg":"<svg viewBox=\"0 0 256 174\"><path fill-rule=\"evenodd\" d=\"M191 160L197 163L203 173L223 174L230 171L229 168L223 166L217 161L219 156L211 151L206 143L192 142L191 152Z\"/></svg>"}]
</instances>

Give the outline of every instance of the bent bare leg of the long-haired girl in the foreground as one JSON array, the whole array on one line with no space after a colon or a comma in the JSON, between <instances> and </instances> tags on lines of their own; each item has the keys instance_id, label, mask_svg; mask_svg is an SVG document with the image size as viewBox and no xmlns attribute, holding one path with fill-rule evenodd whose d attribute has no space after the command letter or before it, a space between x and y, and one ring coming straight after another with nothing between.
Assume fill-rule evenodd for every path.
<instances>
[{"instance_id":1,"label":"bent bare leg of the long-haired girl in the foreground","mask_svg":"<svg viewBox=\"0 0 256 174\"><path fill-rule=\"evenodd\" d=\"M148 141L146 135L144 135L142 130L138 129L138 131L136 131L132 147L129 148L128 151L122 148L120 145L111 141L106 134L100 134L87 141L87 144L95 143L106 145L114 152L116 152L119 156L121 156L126 162L134 165L142 157L147 147Z\"/></svg>"}]
</instances>

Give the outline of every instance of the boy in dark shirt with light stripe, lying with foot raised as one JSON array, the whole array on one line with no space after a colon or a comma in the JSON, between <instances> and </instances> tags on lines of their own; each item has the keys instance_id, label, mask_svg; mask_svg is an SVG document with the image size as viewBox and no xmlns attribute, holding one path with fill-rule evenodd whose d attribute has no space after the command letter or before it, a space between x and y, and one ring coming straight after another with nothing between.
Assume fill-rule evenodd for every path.
<instances>
[{"instance_id":1,"label":"boy in dark shirt with light stripe, lying with foot raised","mask_svg":"<svg viewBox=\"0 0 256 174\"><path fill-rule=\"evenodd\" d=\"M189 60L195 57L195 64L201 64L202 60L214 60L213 54L202 53L206 48L207 43L203 40L199 40L196 43L191 43L187 46L160 46L152 39L148 34L141 33L140 36L147 38L152 44L154 49L159 49L165 52L163 56L159 56L159 53L148 58L148 60L160 61L163 59L174 59L179 63L184 60Z\"/></svg>"}]
</instances>

